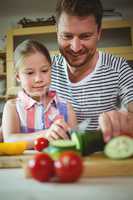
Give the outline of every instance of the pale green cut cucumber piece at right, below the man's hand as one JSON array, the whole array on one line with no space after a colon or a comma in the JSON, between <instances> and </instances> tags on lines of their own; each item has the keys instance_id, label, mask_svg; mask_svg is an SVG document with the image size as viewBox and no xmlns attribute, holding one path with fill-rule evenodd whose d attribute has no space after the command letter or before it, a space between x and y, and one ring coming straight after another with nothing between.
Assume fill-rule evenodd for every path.
<instances>
[{"instance_id":1,"label":"pale green cut cucumber piece at right, below the man's hand","mask_svg":"<svg viewBox=\"0 0 133 200\"><path fill-rule=\"evenodd\" d=\"M104 153L111 159L126 159L133 156L133 139L129 136L118 136L105 146Z\"/></svg>"}]
</instances>

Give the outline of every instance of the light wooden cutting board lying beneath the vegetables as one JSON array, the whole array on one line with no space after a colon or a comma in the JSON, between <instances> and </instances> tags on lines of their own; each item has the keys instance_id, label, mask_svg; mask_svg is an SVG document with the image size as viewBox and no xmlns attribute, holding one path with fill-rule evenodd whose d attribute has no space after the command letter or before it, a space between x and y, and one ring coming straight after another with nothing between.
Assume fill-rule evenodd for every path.
<instances>
[{"instance_id":1,"label":"light wooden cutting board lying beneath the vegetables","mask_svg":"<svg viewBox=\"0 0 133 200\"><path fill-rule=\"evenodd\" d=\"M19 156L0 156L0 168L20 168L35 153L35 151L25 151ZM95 153L83 160L83 177L133 176L133 158L111 160L102 153Z\"/></svg>"}]
</instances>

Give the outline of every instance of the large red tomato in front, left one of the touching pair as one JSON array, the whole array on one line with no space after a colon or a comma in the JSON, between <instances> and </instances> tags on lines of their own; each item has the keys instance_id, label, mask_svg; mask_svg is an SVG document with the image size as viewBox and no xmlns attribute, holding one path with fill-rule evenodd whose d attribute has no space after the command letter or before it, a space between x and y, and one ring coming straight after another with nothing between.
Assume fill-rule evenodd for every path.
<instances>
[{"instance_id":1,"label":"large red tomato in front, left one of the touching pair","mask_svg":"<svg viewBox=\"0 0 133 200\"><path fill-rule=\"evenodd\" d=\"M47 182L54 176L54 161L46 153L36 154L29 160L28 168L31 176L40 182Z\"/></svg>"}]
</instances>

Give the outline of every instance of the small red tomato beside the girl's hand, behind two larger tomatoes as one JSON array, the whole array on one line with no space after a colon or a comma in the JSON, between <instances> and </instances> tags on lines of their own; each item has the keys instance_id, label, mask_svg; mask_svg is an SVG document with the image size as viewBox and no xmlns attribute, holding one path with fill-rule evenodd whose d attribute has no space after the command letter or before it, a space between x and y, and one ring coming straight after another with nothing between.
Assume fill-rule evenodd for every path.
<instances>
[{"instance_id":1,"label":"small red tomato beside the girl's hand, behind two larger tomatoes","mask_svg":"<svg viewBox=\"0 0 133 200\"><path fill-rule=\"evenodd\" d=\"M34 149L37 151L42 151L48 147L49 141L46 138L40 137L34 141Z\"/></svg>"}]
</instances>

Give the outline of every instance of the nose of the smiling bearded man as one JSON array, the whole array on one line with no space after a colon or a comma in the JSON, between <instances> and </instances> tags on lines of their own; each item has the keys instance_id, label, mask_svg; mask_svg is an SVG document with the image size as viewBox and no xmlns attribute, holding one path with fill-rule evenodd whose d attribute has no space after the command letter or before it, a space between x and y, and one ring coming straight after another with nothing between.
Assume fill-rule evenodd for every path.
<instances>
[{"instance_id":1,"label":"nose of the smiling bearded man","mask_svg":"<svg viewBox=\"0 0 133 200\"><path fill-rule=\"evenodd\" d=\"M70 45L71 50L73 50L75 53L80 51L82 49L82 43L81 40L78 37L74 37L71 40L71 45Z\"/></svg>"}]
</instances>

